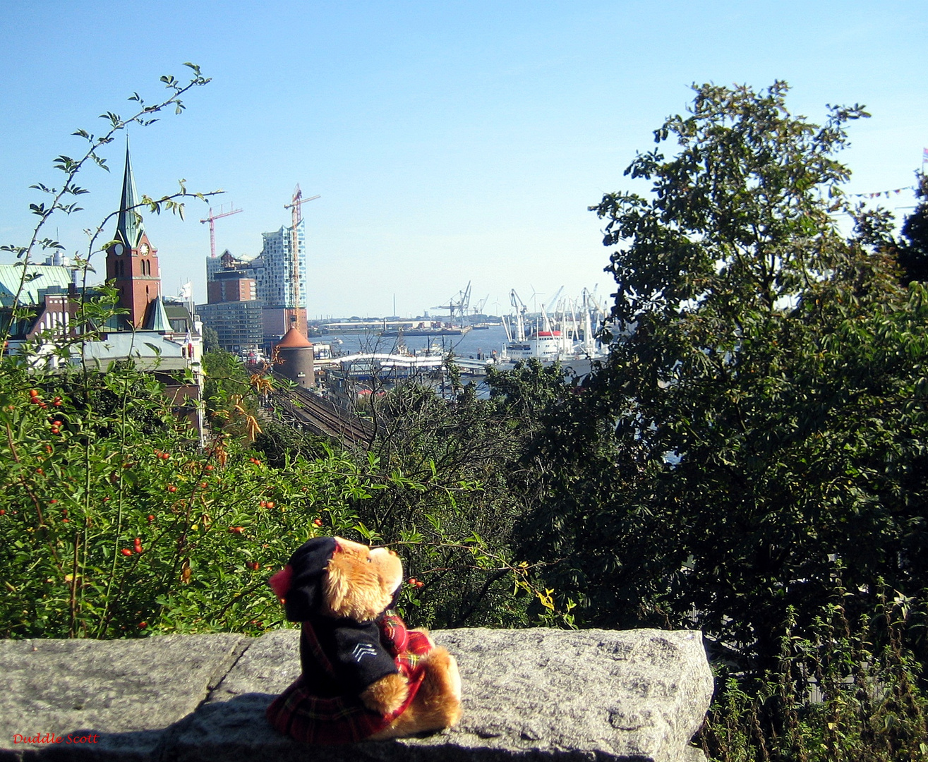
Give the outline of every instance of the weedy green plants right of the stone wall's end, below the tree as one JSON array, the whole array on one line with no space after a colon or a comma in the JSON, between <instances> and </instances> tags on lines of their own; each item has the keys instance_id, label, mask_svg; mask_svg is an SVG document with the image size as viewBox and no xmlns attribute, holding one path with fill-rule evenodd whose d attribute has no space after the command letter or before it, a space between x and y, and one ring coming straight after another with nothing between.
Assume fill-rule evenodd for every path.
<instances>
[{"instance_id":1,"label":"weedy green plants right of the stone wall's end, below the tree","mask_svg":"<svg viewBox=\"0 0 928 762\"><path fill-rule=\"evenodd\" d=\"M839 598L811 638L787 628L778 665L764 678L739 680L719 667L698 738L703 751L717 762L928 759L928 694L903 646L911 604L883 601L852 629ZM874 644L878 631L889 635L882 645Z\"/></svg>"}]
</instances>

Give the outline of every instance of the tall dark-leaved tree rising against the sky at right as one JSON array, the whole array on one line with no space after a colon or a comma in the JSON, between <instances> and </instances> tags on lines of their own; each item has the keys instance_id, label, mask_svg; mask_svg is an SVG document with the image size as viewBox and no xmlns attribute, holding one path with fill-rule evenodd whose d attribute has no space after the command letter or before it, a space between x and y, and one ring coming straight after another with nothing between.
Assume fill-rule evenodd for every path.
<instances>
[{"instance_id":1,"label":"tall dark-leaved tree rising against the sky at right","mask_svg":"<svg viewBox=\"0 0 928 762\"><path fill-rule=\"evenodd\" d=\"M586 622L699 626L763 672L837 577L849 611L923 584L928 294L838 229L861 107L694 89L625 172L651 194L592 207L631 333L535 440L548 497L515 534Z\"/></svg>"}]
</instances>

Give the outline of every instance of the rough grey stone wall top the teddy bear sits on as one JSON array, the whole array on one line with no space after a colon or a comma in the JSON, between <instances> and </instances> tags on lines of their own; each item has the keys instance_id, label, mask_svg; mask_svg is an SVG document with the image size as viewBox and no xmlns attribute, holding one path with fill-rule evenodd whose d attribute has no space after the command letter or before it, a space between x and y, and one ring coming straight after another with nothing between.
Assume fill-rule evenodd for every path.
<instances>
[{"instance_id":1,"label":"rough grey stone wall top the teddy bear sits on","mask_svg":"<svg viewBox=\"0 0 928 762\"><path fill-rule=\"evenodd\" d=\"M299 673L297 630L0 641L0 762L703 759L689 744L713 691L698 632L432 635L458 657L458 727L338 747L294 743L264 720Z\"/></svg>"}]
</instances>

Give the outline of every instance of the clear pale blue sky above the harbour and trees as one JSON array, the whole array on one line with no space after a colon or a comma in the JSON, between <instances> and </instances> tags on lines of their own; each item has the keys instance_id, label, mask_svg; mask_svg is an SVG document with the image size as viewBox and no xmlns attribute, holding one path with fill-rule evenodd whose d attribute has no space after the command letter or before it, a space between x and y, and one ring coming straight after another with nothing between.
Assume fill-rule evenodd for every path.
<instances>
[{"instance_id":1,"label":"clear pale blue sky above the harbour and trees","mask_svg":"<svg viewBox=\"0 0 928 762\"><path fill-rule=\"evenodd\" d=\"M512 288L538 302L561 286L608 293L586 207L631 187L625 166L694 82L784 79L813 120L866 104L844 153L851 193L910 186L928 147L924 0L5 0L0 26L0 241L28 238L28 187L56 181L73 130L129 113L133 91L154 101L161 74L190 60L213 82L183 115L133 129L138 188L225 189L213 206L244 212L216 223L217 248L236 254L288 224L297 183L320 194L304 207L311 316L389 314L394 295L399 315L419 315L469 280L491 311ZM117 171L84 176L86 212L58 221L69 249L118 202L123 145ZM206 211L146 217L164 291L189 279L205 301Z\"/></svg>"}]
</instances>

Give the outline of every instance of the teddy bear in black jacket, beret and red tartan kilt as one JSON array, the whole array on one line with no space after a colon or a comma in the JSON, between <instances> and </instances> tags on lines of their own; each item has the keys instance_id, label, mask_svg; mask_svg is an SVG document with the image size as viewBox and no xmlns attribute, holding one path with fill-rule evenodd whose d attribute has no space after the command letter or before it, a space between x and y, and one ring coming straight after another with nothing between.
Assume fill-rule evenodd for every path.
<instances>
[{"instance_id":1,"label":"teddy bear in black jacket, beret and red tartan kilt","mask_svg":"<svg viewBox=\"0 0 928 762\"><path fill-rule=\"evenodd\" d=\"M274 728L305 743L354 743L458 721L454 656L393 613L403 582L393 550L314 537L268 582L302 625L303 671L268 706Z\"/></svg>"}]
</instances>

